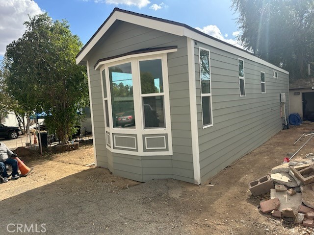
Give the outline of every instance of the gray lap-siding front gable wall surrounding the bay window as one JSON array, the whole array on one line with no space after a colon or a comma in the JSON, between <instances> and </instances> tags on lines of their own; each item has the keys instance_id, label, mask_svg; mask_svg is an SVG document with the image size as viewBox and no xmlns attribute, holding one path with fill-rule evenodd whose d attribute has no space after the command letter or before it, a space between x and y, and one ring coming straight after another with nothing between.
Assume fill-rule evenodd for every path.
<instances>
[{"instance_id":1,"label":"gray lap-siding front gable wall surrounding the bay window","mask_svg":"<svg viewBox=\"0 0 314 235\"><path fill-rule=\"evenodd\" d=\"M95 71L93 66L98 59L141 48L167 46L178 46L177 52L168 54L173 156L139 157L104 151L106 150L105 121L100 71ZM115 175L138 181L174 178L194 183L186 47L186 38L126 22L116 22L90 52L88 62L94 126L97 132L95 133L95 147L99 166L109 167L109 169L112 167L110 170Z\"/></svg>"}]
</instances>

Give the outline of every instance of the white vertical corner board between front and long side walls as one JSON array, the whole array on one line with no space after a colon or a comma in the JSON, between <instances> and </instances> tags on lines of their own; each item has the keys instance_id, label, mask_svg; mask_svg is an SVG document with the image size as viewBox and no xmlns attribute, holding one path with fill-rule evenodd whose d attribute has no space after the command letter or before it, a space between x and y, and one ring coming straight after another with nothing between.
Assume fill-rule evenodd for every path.
<instances>
[{"instance_id":1,"label":"white vertical corner board between front and long side walls","mask_svg":"<svg viewBox=\"0 0 314 235\"><path fill-rule=\"evenodd\" d=\"M197 129L197 109L196 109L196 79L195 79L195 58L194 40L187 38L187 60L188 60L188 82L190 95L190 115L191 115L191 139L193 155L194 184L201 184L200 151L198 143Z\"/></svg>"}]
</instances>

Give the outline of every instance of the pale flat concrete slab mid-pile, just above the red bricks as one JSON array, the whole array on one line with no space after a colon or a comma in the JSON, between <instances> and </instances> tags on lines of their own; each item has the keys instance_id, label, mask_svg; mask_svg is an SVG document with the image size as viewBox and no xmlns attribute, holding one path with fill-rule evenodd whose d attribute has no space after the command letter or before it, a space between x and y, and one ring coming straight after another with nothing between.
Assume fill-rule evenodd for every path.
<instances>
[{"instance_id":1,"label":"pale flat concrete slab mid-pile, just above the red bricks","mask_svg":"<svg viewBox=\"0 0 314 235\"><path fill-rule=\"evenodd\" d=\"M297 211L298 207L302 204L302 193L296 193L293 196L287 195L287 192L276 192L276 189L270 189L270 199L278 198L280 201L280 207L278 211L283 211L285 208L291 208L293 211Z\"/></svg>"}]
</instances>

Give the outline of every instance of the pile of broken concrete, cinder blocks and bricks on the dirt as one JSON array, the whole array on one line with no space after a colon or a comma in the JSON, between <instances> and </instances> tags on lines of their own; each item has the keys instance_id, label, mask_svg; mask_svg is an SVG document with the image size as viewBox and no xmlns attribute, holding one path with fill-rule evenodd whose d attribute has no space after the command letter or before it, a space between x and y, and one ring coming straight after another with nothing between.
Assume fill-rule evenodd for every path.
<instances>
[{"instance_id":1,"label":"pile of broken concrete, cinder blocks and bricks on the dirt","mask_svg":"<svg viewBox=\"0 0 314 235\"><path fill-rule=\"evenodd\" d=\"M260 202L262 213L314 228L314 154L272 168L269 175L249 183L253 196L270 192Z\"/></svg>"}]
</instances>

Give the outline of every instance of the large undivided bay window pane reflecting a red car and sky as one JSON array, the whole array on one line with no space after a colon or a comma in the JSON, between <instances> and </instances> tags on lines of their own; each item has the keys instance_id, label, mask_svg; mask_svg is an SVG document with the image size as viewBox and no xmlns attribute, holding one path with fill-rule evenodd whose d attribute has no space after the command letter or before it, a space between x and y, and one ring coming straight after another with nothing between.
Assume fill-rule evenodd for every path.
<instances>
[{"instance_id":1,"label":"large undivided bay window pane reflecting a red car and sky","mask_svg":"<svg viewBox=\"0 0 314 235\"><path fill-rule=\"evenodd\" d=\"M113 127L135 128L131 63L109 67Z\"/></svg>"}]
</instances>

